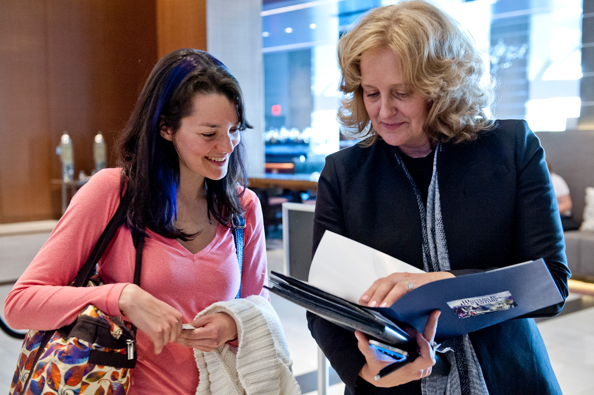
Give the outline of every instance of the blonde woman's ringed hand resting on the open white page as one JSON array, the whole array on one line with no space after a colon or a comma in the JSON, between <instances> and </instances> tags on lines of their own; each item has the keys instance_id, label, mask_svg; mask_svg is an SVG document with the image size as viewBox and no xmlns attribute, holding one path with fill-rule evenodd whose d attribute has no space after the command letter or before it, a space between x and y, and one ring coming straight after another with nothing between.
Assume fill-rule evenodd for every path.
<instances>
[{"instance_id":1,"label":"blonde woman's ringed hand resting on the open white page","mask_svg":"<svg viewBox=\"0 0 594 395\"><path fill-rule=\"evenodd\" d=\"M428 282L453 278L450 272L392 273L377 279L359 298L359 304L369 307L389 307L402 295Z\"/></svg>"}]
</instances>

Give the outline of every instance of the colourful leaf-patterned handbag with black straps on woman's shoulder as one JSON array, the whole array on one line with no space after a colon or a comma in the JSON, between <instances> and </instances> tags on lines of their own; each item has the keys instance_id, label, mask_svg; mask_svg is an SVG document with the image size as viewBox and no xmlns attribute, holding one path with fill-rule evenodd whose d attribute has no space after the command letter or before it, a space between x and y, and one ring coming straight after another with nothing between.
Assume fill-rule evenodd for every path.
<instances>
[{"instance_id":1,"label":"colourful leaf-patterned handbag with black straps on woman's shoulder","mask_svg":"<svg viewBox=\"0 0 594 395\"><path fill-rule=\"evenodd\" d=\"M72 286L99 286L97 262L124 222L129 202L126 194L118 210L97 241ZM140 284L144 237L135 237L134 283ZM94 305L87 305L74 323L58 330L30 330L27 333L11 395L41 394L125 394L136 364L135 328L121 317L110 317Z\"/></svg>"}]
</instances>

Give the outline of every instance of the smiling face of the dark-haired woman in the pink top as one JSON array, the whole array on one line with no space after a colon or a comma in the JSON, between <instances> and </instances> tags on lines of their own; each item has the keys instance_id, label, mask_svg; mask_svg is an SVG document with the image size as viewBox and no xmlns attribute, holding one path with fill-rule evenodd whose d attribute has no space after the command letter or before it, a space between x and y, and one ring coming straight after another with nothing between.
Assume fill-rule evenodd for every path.
<instances>
[{"instance_id":1,"label":"smiling face of the dark-haired woman in the pink top","mask_svg":"<svg viewBox=\"0 0 594 395\"><path fill-rule=\"evenodd\" d=\"M192 112L182 118L174 133L165 125L161 136L173 142L179 156L181 180L204 184L204 178L220 180L227 174L229 156L241 139L235 104L221 94L197 94Z\"/></svg>"}]
</instances>

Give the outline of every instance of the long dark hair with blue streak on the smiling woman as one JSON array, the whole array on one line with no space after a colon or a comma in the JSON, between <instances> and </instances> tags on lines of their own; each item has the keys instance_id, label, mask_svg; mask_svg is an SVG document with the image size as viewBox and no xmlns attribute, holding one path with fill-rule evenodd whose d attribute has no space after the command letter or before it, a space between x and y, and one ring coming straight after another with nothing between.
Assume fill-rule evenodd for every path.
<instances>
[{"instance_id":1,"label":"long dark hair with blue streak on the smiling woman","mask_svg":"<svg viewBox=\"0 0 594 395\"><path fill-rule=\"evenodd\" d=\"M189 240L175 227L179 158L175 146L164 139L161 126L177 132L181 120L192 112L196 94L221 94L235 104L239 130L252 128L245 119L244 99L235 77L223 63L197 49L178 49L157 62L138 97L134 112L119 141L122 191L131 190L128 226L133 234L144 228L168 238ZM230 226L231 217L243 213L239 196L246 182L243 139L229 157L229 167L220 180L206 179L208 216ZM244 188L238 194L236 186Z\"/></svg>"}]
</instances>

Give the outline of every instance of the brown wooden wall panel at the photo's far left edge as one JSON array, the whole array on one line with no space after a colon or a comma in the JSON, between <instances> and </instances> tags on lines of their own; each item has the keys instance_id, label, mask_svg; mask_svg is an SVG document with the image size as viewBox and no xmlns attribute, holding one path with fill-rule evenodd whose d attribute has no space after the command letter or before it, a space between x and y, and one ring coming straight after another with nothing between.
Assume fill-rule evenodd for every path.
<instances>
[{"instance_id":1,"label":"brown wooden wall panel at the photo's far left edge","mask_svg":"<svg viewBox=\"0 0 594 395\"><path fill-rule=\"evenodd\" d=\"M51 217L45 2L0 2L0 222Z\"/></svg>"}]
</instances>

